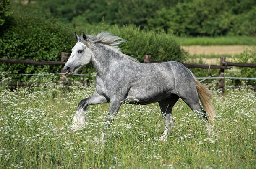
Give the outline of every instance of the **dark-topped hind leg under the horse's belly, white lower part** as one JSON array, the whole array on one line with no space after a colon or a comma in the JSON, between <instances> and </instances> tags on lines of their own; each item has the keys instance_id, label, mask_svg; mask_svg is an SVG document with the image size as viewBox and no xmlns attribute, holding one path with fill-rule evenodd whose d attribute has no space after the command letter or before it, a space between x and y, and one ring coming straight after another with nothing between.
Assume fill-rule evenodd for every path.
<instances>
[{"instance_id":1,"label":"dark-topped hind leg under the horse's belly, white lower part","mask_svg":"<svg viewBox=\"0 0 256 169\"><path fill-rule=\"evenodd\" d=\"M173 119L172 119L172 108L174 104L178 101L179 96L174 95L172 98L166 98L162 101L159 101L159 106L161 109L161 114L164 117L165 122L165 131L161 140L165 140L167 134L170 133L171 127L174 126Z\"/></svg>"}]
</instances>

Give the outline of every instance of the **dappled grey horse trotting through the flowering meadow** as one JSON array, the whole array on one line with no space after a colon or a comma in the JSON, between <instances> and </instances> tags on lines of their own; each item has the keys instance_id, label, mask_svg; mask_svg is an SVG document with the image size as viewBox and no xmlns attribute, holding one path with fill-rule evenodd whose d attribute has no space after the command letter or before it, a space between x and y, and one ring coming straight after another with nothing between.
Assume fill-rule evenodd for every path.
<instances>
[{"instance_id":1,"label":"dappled grey horse trotting through the flowering meadow","mask_svg":"<svg viewBox=\"0 0 256 169\"><path fill-rule=\"evenodd\" d=\"M87 106L109 103L107 123L111 123L124 101L131 104L158 102L164 116L163 137L174 125L172 107L181 98L193 110L208 120L214 118L214 108L209 100L208 90L199 83L185 66L176 61L142 64L123 54L118 45L125 40L111 33L83 35L75 33L76 45L64 66L72 74L88 63L92 63L97 76L96 92L80 101L73 119L72 129L85 125L84 110ZM204 110L199 104L199 99ZM104 134L102 135L102 139Z\"/></svg>"}]
</instances>

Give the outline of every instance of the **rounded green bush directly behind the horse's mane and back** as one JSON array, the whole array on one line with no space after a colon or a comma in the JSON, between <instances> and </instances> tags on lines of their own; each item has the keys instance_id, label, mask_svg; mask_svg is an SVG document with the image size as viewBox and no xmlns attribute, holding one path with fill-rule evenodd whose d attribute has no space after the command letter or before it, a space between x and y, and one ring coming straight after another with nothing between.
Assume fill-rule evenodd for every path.
<instances>
[{"instance_id":1,"label":"rounded green bush directly behind the horse's mane and back","mask_svg":"<svg viewBox=\"0 0 256 169\"><path fill-rule=\"evenodd\" d=\"M136 25L117 25L108 27L102 25L94 27L93 30L87 30L89 33L99 33L99 31L108 31L127 40L120 45L123 53L135 56L138 61L143 62L144 55L151 55L155 61L178 61L185 60L187 53L180 48L175 35L165 33L164 31L146 31L140 30Z\"/></svg>"}]
</instances>

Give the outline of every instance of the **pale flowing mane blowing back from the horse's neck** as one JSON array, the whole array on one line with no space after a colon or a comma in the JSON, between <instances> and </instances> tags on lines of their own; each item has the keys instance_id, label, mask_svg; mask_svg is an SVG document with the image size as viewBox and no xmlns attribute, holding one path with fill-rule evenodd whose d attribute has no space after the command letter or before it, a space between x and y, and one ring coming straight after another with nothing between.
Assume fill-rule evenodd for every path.
<instances>
[{"instance_id":1,"label":"pale flowing mane blowing back from the horse's neck","mask_svg":"<svg viewBox=\"0 0 256 169\"><path fill-rule=\"evenodd\" d=\"M122 51L119 48L119 44L125 43L126 40L123 40L122 38L115 36L112 33L109 32L101 32L98 35L86 35L86 40L83 39L83 37L79 37L79 41L84 43L84 45L88 47L93 47L94 44L100 43L102 45L105 45L106 47L114 50L116 53L120 53L125 58L128 58L132 61L140 63L137 59L133 58L132 56L128 56L122 53Z\"/></svg>"}]
</instances>

